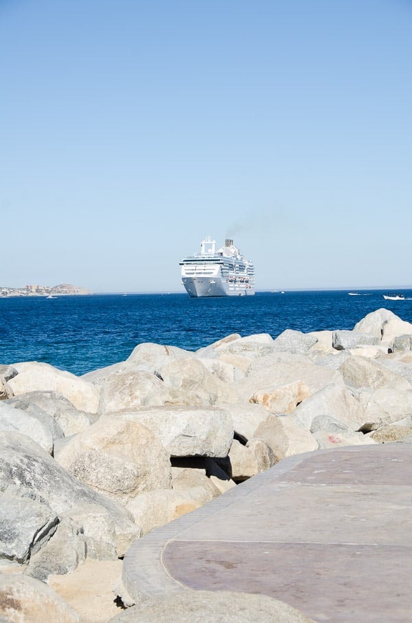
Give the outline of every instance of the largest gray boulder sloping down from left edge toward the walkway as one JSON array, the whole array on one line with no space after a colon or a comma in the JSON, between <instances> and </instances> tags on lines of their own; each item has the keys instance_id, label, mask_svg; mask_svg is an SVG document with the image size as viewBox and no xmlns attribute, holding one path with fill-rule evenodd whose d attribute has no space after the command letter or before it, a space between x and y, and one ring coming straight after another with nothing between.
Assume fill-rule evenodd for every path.
<instances>
[{"instance_id":1,"label":"largest gray boulder sloping down from left edge toward the walkway","mask_svg":"<svg viewBox=\"0 0 412 623\"><path fill-rule=\"evenodd\" d=\"M0 456L0 491L4 494L38 501L58 517L70 516L79 505L101 507L113 521L119 556L139 536L139 527L124 507L73 478L29 437L5 431L0 437Z\"/></svg>"}]
</instances>

